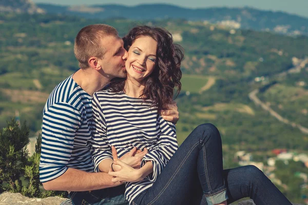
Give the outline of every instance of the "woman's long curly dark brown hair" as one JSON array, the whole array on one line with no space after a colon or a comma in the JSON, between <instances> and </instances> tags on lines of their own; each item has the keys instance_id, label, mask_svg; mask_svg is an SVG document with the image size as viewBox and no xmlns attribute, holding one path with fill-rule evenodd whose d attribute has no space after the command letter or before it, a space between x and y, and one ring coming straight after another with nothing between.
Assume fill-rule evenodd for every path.
<instances>
[{"instance_id":1,"label":"woman's long curly dark brown hair","mask_svg":"<svg viewBox=\"0 0 308 205\"><path fill-rule=\"evenodd\" d=\"M184 49L173 43L172 35L164 28L138 26L132 28L123 37L124 48L129 47L140 36L149 36L156 40L156 65L154 71L148 76L145 88L141 97L144 100L150 99L153 105L159 110L166 109L166 105L172 102L174 91L176 97L181 90L180 79L182 77L181 61L184 57ZM125 79L116 78L111 80L110 89L112 92L124 91Z\"/></svg>"}]
</instances>

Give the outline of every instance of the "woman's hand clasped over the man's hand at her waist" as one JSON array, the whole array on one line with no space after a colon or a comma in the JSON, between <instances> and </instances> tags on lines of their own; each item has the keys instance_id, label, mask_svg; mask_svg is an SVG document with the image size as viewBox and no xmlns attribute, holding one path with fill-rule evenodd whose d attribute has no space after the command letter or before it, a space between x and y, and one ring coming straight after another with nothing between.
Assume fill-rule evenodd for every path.
<instances>
[{"instance_id":1,"label":"woman's hand clasped over the man's hand at her waist","mask_svg":"<svg viewBox=\"0 0 308 205\"><path fill-rule=\"evenodd\" d=\"M113 176L112 182L137 182L144 179L141 169L133 169L120 159L113 161L113 166L120 166L119 171L113 172L110 168L108 174Z\"/></svg>"}]
</instances>

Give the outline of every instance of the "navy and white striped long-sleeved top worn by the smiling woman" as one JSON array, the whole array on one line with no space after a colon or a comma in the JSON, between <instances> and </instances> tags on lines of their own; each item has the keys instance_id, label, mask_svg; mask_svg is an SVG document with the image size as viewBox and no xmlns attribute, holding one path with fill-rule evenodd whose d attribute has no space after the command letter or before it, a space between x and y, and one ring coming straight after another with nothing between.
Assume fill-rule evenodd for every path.
<instances>
[{"instance_id":1,"label":"navy and white striped long-sleeved top worn by the smiling woman","mask_svg":"<svg viewBox=\"0 0 308 205\"><path fill-rule=\"evenodd\" d=\"M142 160L152 161L153 173L139 182L126 183L125 197L132 200L150 188L166 163L178 149L176 130L172 122L164 120L151 107L151 101L127 96L123 92L108 90L93 95L93 161L99 172L102 160L112 159L111 146L117 149L119 157L133 147L148 149Z\"/></svg>"}]
</instances>

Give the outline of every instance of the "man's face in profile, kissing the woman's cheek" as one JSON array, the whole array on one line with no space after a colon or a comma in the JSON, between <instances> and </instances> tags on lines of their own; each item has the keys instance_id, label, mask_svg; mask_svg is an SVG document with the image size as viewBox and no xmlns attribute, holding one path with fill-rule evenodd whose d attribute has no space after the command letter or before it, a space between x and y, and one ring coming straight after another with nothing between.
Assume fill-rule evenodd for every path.
<instances>
[{"instance_id":1,"label":"man's face in profile, kissing the woman's cheek","mask_svg":"<svg viewBox=\"0 0 308 205\"><path fill-rule=\"evenodd\" d=\"M102 45L106 48L106 52L98 63L102 66L103 75L109 79L126 77L127 51L123 48L123 40L119 36L106 36L102 40Z\"/></svg>"}]
</instances>

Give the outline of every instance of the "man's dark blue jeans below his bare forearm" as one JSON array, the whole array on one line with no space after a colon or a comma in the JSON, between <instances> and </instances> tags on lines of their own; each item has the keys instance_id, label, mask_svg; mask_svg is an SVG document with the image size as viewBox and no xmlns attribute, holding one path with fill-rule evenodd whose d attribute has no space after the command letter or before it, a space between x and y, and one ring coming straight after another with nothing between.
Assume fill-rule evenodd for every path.
<instances>
[{"instance_id":1,"label":"man's dark blue jeans below his bare forearm","mask_svg":"<svg viewBox=\"0 0 308 205\"><path fill-rule=\"evenodd\" d=\"M93 190L87 192L70 192L68 197L74 205L128 205L124 196L125 186Z\"/></svg>"}]
</instances>

